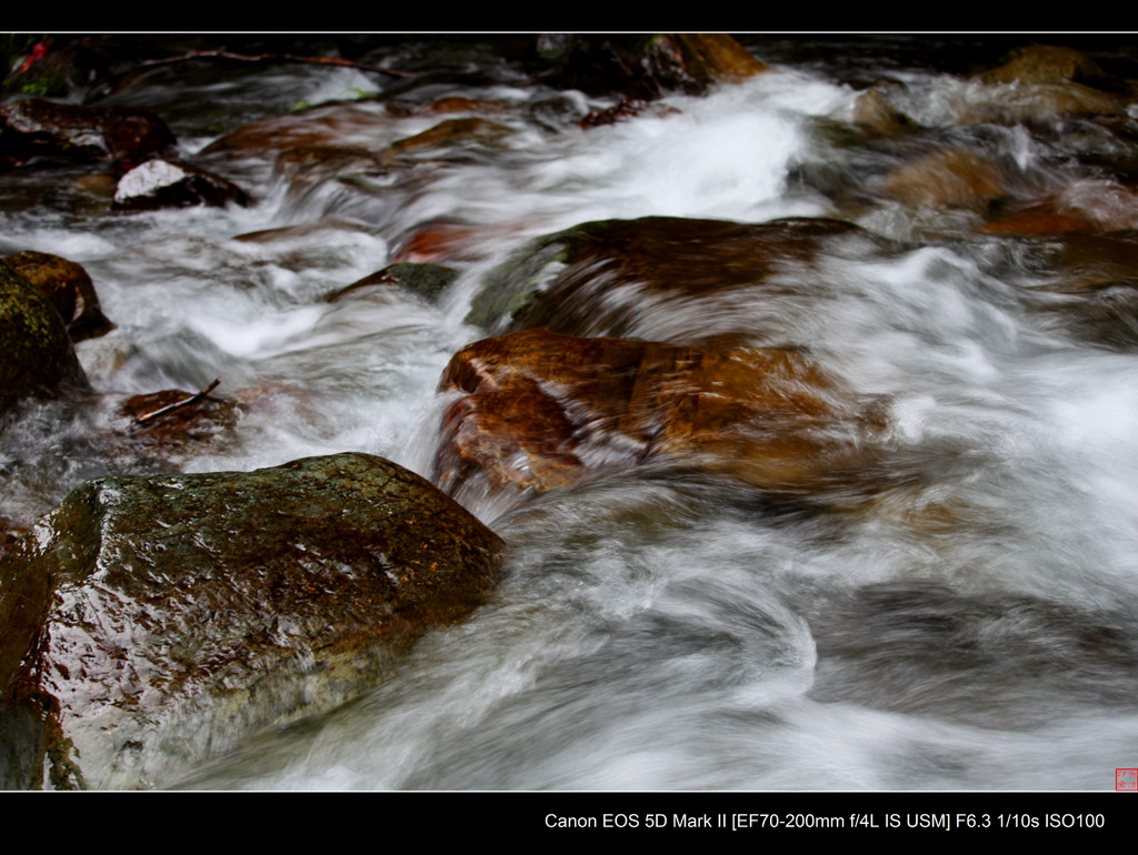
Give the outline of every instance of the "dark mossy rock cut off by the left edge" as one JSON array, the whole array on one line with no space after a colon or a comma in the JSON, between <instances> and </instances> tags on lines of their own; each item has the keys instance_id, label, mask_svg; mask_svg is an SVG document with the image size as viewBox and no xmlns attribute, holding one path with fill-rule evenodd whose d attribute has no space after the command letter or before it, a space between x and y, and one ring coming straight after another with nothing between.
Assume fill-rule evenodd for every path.
<instances>
[{"instance_id":1,"label":"dark mossy rock cut off by the left edge","mask_svg":"<svg viewBox=\"0 0 1138 855\"><path fill-rule=\"evenodd\" d=\"M0 413L33 395L86 388L86 375L51 300L0 264Z\"/></svg>"}]
</instances>

